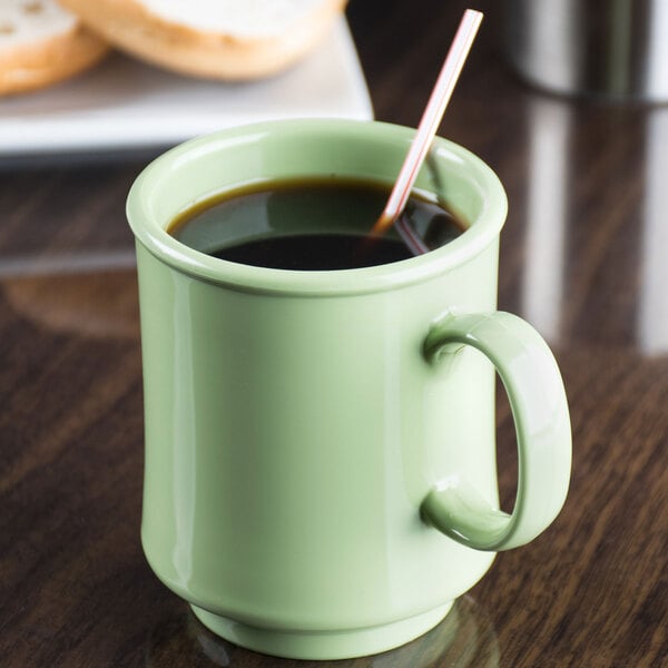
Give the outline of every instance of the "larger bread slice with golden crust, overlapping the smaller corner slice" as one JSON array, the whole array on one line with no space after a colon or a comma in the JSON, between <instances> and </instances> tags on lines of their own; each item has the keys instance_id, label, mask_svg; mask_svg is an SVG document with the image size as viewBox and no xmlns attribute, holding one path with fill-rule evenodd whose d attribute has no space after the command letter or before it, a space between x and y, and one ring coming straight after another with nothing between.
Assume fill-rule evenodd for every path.
<instances>
[{"instance_id":1,"label":"larger bread slice with golden crust, overlapping the smaller corner slice","mask_svg":"<svg viewBox=\"0 0 668 668\"><path fill-rule=\"evenodd\" d=\"M275 75L314 48L346 0L60 0L115 47L179 73Z\"/></svg>"}]
</instances>

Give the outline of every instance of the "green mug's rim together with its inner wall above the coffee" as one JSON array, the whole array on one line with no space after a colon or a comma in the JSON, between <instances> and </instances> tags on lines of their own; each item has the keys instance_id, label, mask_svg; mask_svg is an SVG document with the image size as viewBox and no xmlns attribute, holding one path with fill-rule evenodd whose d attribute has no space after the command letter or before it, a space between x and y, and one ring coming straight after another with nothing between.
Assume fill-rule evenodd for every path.
<instances>
[{"instance_id":1,"label":"green mug's rim together with its inner wall above the coffee","mask_svg":"<svg viewBox=\"0 0 668 668\"><path fill-rule=\"evenodd\" d=\"M436 138L415 189L444 204L468 229L459 238L410 259L361 269L310 273L228 263L194 250L166 230L184 212L226 191L272 181L346 179L391 187L414 130L377 121L288 120L187 141L151 163L128 197L128 219L138 239L176 268L209 281L275 291L358 292L465 262L495 239L507 202L495 174L462 147ZM372 222L373 223L373 222ZM355 274L354 282L344 274ZM277 275L281 274L281 275ZM317 274L324 274L318 276ZM415 274L411 276L411 274ZM365 282L365 283L361 283Z\"/></svg>"}]
</instances>

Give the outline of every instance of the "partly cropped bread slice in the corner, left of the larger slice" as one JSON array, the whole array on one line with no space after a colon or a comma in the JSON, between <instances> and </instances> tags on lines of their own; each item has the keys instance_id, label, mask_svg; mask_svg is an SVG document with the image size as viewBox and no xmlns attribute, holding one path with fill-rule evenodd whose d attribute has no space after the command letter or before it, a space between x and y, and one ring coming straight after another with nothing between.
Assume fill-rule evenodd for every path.
<instances>
[{"instance_id":1,"label":"partly cropped bread slice in the corner, left of the larger slice","mask_svg":"<svg viewBox=\"0 0 668 668\"><path fill-rule=\"evenodd\" d=\"M107 45L56 0L0 3L0 95L36 90L94 66Z\"/></svg>"}]
</instances>

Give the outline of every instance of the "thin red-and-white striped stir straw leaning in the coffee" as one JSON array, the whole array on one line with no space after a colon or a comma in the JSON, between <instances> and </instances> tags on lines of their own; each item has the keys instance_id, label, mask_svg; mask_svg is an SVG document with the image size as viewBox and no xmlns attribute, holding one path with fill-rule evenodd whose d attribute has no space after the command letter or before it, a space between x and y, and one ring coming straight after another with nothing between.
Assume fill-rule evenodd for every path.
<instances>
[{"instance_id":1,"label":"thin red-and-white striped stir straw leaning in the coffee","mask_svg":"<svg viewBox=\"0 0 668 668\"><path fill-rule=\"evenodd\" d=\"M411 194L411 188L418 178L420 167L422 167L434 135L441 125L445 107L452 97L452 91L464 67L464 61L471 50L481 21L482 13L480 11L468 9L464 12L387 204L371 229L372 235L382 235L401 216ZM400 234L415 254L429 250L424 242L405 223L402 224L400 220L397 227Z\"/></svg>"}]
</instances>

